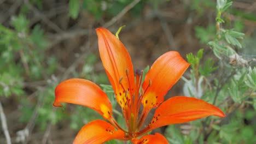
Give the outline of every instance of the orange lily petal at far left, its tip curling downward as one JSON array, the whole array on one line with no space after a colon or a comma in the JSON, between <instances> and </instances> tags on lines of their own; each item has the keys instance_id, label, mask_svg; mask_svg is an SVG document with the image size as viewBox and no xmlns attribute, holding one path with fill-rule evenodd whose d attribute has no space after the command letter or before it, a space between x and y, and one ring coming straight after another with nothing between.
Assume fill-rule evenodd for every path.
<instances>
[{"instance_id":1,"label":"orange lily petal at far left, its tip curling downward","mask_svg":"<svg viewBox=\"0 0 256 144\"><path fill-rule=\"evenodd\" d=\"M84 79L69 79L61 82L55 89L54 106L60 103L83 105L94 109L104 118L112 117L112 105L100 87Z\"/></svg>"}]
</instances>

